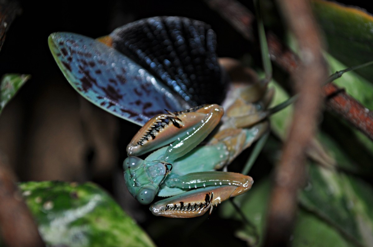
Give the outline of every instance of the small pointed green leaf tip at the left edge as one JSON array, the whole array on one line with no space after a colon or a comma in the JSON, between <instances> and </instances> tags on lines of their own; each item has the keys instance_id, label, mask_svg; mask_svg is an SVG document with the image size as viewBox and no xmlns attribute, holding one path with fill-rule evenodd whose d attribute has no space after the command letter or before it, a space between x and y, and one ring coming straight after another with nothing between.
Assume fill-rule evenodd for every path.
<instances>
[{"instance_id":1,"label":"small pointed green leaf tip at the left edge","mask_svg":"<svg viewBox=\"0 0 373 247\"><path fill-rule=\"evenodd\" d=\"M3 76L0 84L0 113L30 77L30 75L22 74L5 74Z\"/></svg>"}]
</instances>

